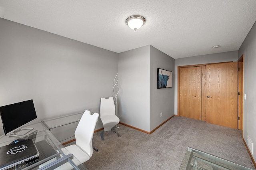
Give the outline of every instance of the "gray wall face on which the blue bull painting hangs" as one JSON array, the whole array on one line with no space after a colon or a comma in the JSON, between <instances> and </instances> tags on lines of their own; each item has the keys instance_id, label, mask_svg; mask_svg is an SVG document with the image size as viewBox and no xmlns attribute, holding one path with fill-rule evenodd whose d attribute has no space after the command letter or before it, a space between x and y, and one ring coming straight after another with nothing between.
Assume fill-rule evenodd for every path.
<instances>
[{"instance_id":1,"label":"gray wall face on which the blue bull painting hangs","mask_svg":"<svg viewBox=\"0 0 256 170\"><path fill-rule=\"evenodd\" d=\"M158 68L172 71L172 88L156 89ZM174 58L150 46L150 131L173 115Z\"/></svg>"}]
</instances>

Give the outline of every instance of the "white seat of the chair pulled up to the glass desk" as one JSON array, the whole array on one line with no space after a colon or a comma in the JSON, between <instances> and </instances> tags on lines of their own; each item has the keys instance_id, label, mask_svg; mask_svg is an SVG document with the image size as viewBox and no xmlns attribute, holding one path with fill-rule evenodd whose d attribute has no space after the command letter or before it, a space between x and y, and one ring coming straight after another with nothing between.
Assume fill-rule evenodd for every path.
<instances>
[{"instance_id":1,"label":"white seat of the chair pulled up to the glass desk","mask_svg":"<svg viewBox=\"0 0 256 170\"><path fill-rule=\"evenodd\" d=\"M88 156L85 152L83 152L76 144L66 146L65 148L66 150L68 150L69 153L73 154L76 157L76 159L79 161L79 162L74 161L74 164L76 165L82 164L90 159L90 156Z\"/></svg>"}]
</instances>

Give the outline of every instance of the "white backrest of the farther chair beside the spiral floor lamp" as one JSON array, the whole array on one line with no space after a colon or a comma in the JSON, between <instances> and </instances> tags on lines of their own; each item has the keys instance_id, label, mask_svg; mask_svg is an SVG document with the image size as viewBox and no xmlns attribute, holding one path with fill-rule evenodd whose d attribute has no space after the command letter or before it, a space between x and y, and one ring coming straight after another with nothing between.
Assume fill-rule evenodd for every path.
<instances>
[{"instance_id":1,"label":"white backrest of the farther chair beside the spiral floor lamp","mask_svg":"<svg viewBox=\"0 0 256 170\"><path fill-rule=\"evenodd\" d=\"M116 107L113 97L100 98L100 116L115 115Z\"/></svg>"}]
</instances>

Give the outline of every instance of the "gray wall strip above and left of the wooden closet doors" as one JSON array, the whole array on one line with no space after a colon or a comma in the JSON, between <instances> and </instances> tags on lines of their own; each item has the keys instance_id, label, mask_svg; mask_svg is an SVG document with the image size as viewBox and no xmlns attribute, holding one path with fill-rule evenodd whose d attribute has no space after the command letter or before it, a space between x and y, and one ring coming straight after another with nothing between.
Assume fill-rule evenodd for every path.
<instances>
[{"instance_id":1,"label":"gray wall strip above and left of the wooden closet doors","mask_svg":"<svg viewBox=\"0 0 256 170\"><path fill-rule=\"evenodd\" d=\"M214 53L175 59L175 115L178 114L178 66L220 63L226 61L238 61L238 51L229 51L224 53Z\"/></svg>"}]
</instances>

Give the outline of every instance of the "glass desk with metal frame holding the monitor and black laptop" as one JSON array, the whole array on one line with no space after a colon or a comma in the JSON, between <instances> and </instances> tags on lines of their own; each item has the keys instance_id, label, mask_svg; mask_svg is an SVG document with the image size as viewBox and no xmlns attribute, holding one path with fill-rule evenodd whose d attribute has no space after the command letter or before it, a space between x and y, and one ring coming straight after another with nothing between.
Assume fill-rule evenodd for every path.
<instances>
[{"instance_id":1,"label":"glass desk with metal frame holding the monitor and black laptop","mask_svg":"<svg viewBox=\"0 0 256 170\"><path fill-rule=\"evenodd\" d=\"M10 168L10 170L86 170L72 154L70 154L55 136L42 123L34 123L23 128L34 128L32 133L22 135L26 130L20 132L20 136L0 136L0 146L8 145L18 138L32 138L40 153L34 162L25 162ZM76 166L78 164L78 166Z\"/></svg>"}]
</instances>

